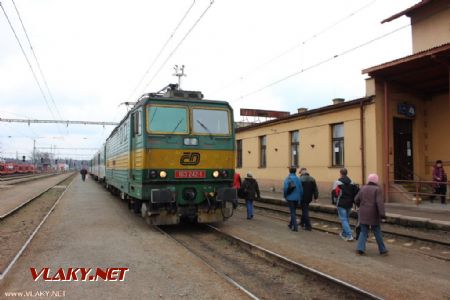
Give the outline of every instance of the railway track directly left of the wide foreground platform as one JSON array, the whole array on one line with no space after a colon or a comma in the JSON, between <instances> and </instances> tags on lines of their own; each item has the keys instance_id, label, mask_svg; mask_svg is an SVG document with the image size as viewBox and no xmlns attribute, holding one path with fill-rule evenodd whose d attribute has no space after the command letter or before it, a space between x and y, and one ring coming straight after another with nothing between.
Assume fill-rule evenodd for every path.
<instances>
[{"instance_id":1,"label":"railway track directly left of the wide foreground platform","mask_svg":"<svg viewBox=\"0 0 450 300\"><path fill-rule=\"evenodd\" d=\"M0 280L6 276L55 209L74 176L76 175L65 177L0 216Z\"/></svg>"}]
</instances>

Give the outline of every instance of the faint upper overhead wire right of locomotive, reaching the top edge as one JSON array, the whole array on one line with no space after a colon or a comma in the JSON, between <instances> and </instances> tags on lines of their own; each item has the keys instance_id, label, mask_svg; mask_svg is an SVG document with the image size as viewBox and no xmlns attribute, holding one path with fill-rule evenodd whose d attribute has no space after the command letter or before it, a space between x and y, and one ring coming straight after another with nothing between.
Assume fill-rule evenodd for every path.
<instances>
[{"instance_id":1,"label":"faint upper overhead wire right of locomotive, reaching the top edge","mask_svg":"<svg viewBox=\"0 0 450 300\"><path fill-rule=\"evenodd\" d=\"M319 36L321 36L322 34L330 31L331 29L335 28L336 26L340 25L341 23L347 21L348 19L356 16L358 13L360 13L361 11L365 10L366 8L370 7L371 5L373 5L377 0L373 0L361 7L359 7L358 9L352 11L350 14L345 15L344 17L338 19L337 21L329 24L328 26L326 26L325 28L323 28L322 30L318 31L317 33L312 34L311 36L309 36L308 38L298 42L297 44L295 44L294 46L282 51L281 53L275 55L274 57L266 60L265 62L261 63L260 65L257 65L256 67L248 70L247 72L245 72L245 74L239 76L239 78L236 78L235 80L231 81L230 83L226 84L225 86L222 86L221 88L217 89L216 91L214 91L214 93L218 93L221 92L233 85L235 85L237 82L240 82L241 80L243 80L246 77L249 77L250 75L254 74L256 71L261 70L262 68L270 65L271 63L273 63L274 61L286 56L287 54L291 53L292 51L294 51L295 49L299 48L299 47L303 47L305 46L308 42L310 42L311 40L314 40L316 38L318 38Z\"/></svg>"}]
</instances>

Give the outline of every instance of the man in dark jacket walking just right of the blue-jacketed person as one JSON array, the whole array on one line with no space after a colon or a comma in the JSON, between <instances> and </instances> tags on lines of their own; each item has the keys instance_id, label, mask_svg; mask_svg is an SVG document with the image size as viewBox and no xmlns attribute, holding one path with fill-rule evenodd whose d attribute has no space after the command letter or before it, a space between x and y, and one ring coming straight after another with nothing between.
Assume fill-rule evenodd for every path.
<instances>
[{"instance_id":1,"label":"man in dark jacket walking just right of the blue-jacketed person","mask_svg":"<svg viewBox=\"0 0 450 300\"><path fill-rule=\"evenodd\" d=\"M303 188L303 197L300 201L300 207L302 208L302 218L300 220L300 226L305 230L311 231L311 221L309 220L309 204L319 197L319 191L317 189L316 180L309 175L306 168L300 170L300 182Z\"/></svg>"}]
</instances>

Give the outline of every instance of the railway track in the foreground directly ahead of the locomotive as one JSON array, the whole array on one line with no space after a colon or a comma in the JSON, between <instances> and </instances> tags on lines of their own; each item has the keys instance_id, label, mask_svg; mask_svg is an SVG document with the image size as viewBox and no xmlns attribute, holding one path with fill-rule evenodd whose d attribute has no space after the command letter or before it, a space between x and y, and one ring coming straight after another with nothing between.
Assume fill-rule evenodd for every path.
<instances>
[{"instance_id":1,"label":"railway track in the foreground directly ahead of the locomotive","mask_svg":"<svg viewBox=\"0 0 450 300\"><path fill-rule=\"evenodd\" d=\"M252 299L381 299L211 225L157 228Z\"/></svg>"}]
</instances>

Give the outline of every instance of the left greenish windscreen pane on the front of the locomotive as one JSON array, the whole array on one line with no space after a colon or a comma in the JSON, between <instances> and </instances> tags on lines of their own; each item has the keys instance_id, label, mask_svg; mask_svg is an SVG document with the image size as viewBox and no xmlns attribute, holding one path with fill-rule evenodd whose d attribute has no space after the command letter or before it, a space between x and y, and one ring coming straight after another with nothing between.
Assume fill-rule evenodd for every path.
<instances>
[{"instance_id":1,"label":"left greenish windscreen pane on the front of the locomotive","mask_svg":"<svg viewBox=\"0 0 450 300\"><path fill-rule=\"evenodd\" d=\"M187 108L149 106L147 108L147 129L151 133L188 133Z\"/></svg>"}]
</instances>

